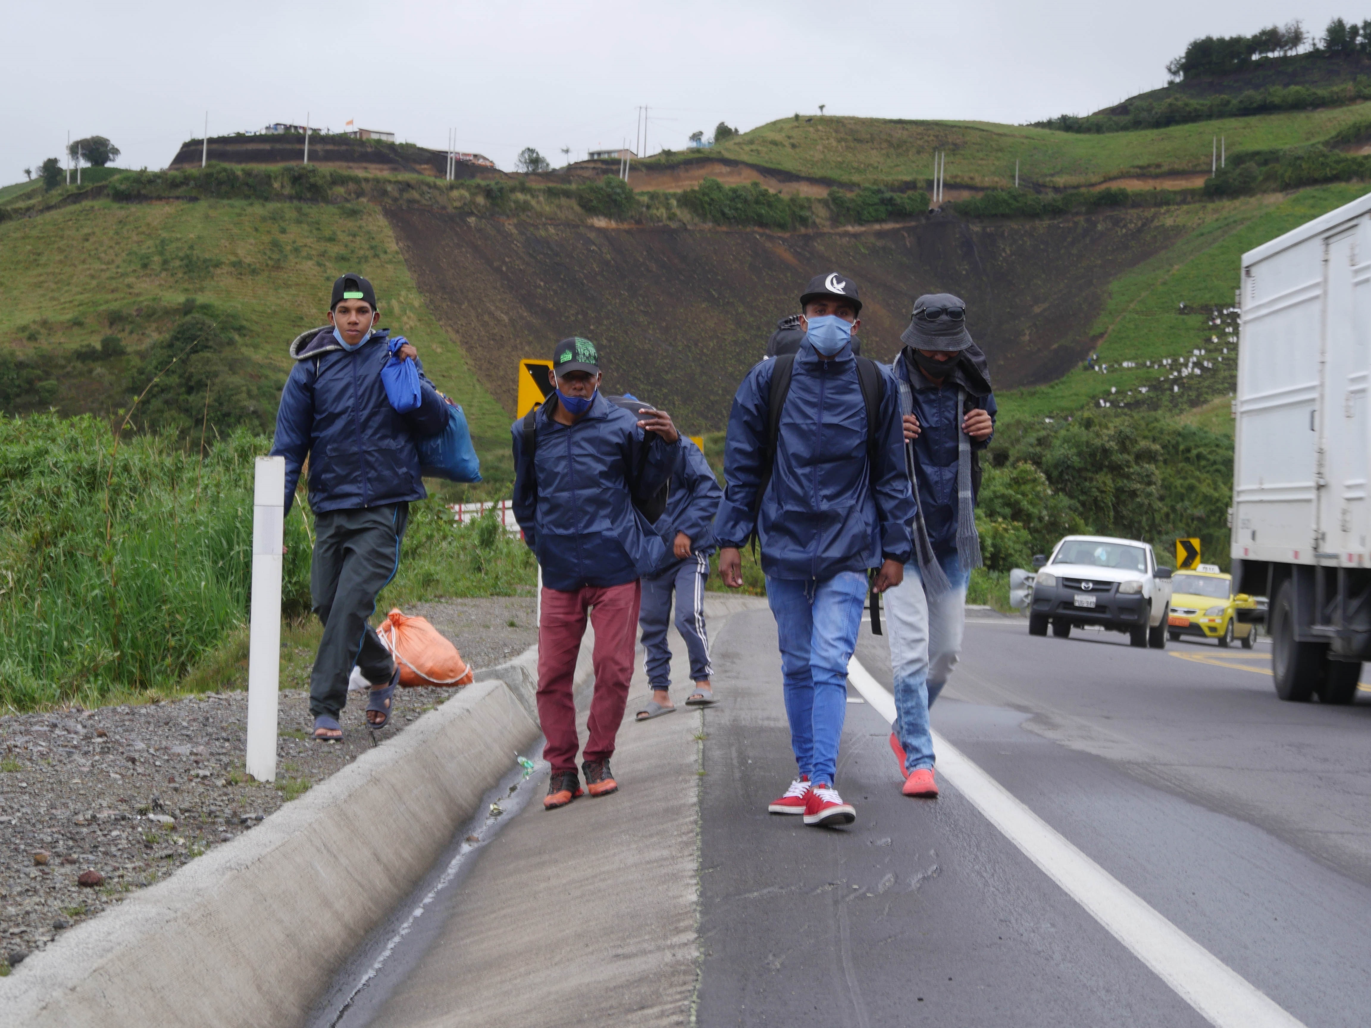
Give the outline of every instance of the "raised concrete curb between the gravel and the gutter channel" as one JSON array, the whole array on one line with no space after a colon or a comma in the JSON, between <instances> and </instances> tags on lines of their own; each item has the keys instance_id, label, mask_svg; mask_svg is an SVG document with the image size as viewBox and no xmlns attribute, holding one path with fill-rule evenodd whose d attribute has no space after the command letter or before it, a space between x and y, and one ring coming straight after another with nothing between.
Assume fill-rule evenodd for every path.
<instances>
[{"instance_id":1,"label":"raised concrete curb between the gravel and the gutter channel","mask_svg":"<svg viewBox=\"0 0 1371 1028\"><path fill-rule=\"evenodd\" d=\"M303 1021L537 737L536 647L478 678L251 832L29 957L0 979L0 1024Z\"/></svg>"}]
</instances>

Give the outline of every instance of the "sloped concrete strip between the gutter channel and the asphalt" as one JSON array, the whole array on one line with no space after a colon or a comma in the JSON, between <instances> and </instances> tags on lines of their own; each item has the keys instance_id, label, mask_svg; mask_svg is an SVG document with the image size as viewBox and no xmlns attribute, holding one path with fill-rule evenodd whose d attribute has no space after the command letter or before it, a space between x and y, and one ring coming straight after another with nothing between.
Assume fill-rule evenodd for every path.
<instances>
[{"instance_id":1,"label":"sloped concrete strip between the gutter channel and the asphalt","mask_svg":"<svg viewBox=\"0 0 1371 1028\"><path fill-rule=\"evenodd\" d=\"M729 614L755 606L712 599L712 637ZM690 665L675 629L670 640L680 709L633 722L647 696L639 654L613 761L620 791L544 811L540 784L473 868L437 942L373 1024L690 1023L705 718L681 706ZM584 744L588 705L580 706Z\"/></svg>"}]
</instances>

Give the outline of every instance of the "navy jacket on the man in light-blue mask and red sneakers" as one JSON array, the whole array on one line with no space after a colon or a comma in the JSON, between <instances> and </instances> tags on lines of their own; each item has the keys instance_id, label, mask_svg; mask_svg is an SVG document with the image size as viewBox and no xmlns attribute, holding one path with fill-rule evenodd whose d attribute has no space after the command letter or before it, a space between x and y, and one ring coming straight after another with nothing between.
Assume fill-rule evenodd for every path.
<instances>
[{"instance_id":1,"label":"navy jacket on the man in light-blue mask and red sneakers","mask_svg":"<svg viewBox=\"0 0 1371 1028\"><path fill-rule=\"evenodd\" d=\"M720 546L740 547L753 529L775 367L775 360L757 365L733 397L724 451L728 488L714 519ZM801 347L780 415L775 469L757 514L766 574L831 578L876 567L883 556L909 559L914 499L898 391L888 374L883 384L880 424L873 426L880 445L875 467L868 467L866 404L851 348L820 360L808 340Z\"/></svg>"}]
</instances>

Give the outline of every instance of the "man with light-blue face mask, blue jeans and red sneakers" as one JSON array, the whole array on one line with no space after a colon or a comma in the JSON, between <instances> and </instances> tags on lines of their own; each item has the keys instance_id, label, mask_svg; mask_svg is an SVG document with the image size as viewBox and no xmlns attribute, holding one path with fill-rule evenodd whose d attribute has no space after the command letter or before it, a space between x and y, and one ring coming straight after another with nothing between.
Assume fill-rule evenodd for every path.
<instances>
[{"instance_id":1,"label":"man with light-blue face mask, blue jeans and red sneakers","mask_svg":"<svg viewBox=\"0 0 1371 1028\"><path fill-rule=\"evenodd\" d=\"M899 584L914 500L895 389L851 352L861 323L857 285L818 276L799 303L799 352L757 365L733 397L714 535L720 576L738 588L739 547L755 530L776 617L799 773L768 809L828 827L857 818L834 779L868 570L879 567L876 592ZM777 374L788 374L788 389L777 387L786 381Z\"/></svg>"}]
</instances>

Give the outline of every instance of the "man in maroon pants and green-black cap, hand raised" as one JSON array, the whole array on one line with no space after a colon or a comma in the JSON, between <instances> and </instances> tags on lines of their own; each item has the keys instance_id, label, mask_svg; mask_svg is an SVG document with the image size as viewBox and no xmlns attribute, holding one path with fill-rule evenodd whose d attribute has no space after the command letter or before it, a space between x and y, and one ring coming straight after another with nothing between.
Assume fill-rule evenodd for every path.
<instances>
[{"instance_id":1,"label":"man in maroon pants and green-black cap, hand raised","mask_svg":"<svg viewBox=\"0 0 1371 1028\"><path fill-rule=\"evenodd\" d=\"M618 790L609 768L633 677L639 578L666 561L666 544L635 506L666 482L680 436L665 411L642 419L599 393L599 354L588 339L553 351L557 391L514 422L514 517L543 569L537 626L537 717L553 765L543 807L581 795L576 773L572 678L595 628L595 695L581 770L592 796Z\"/></svg>"}]
</instances>

